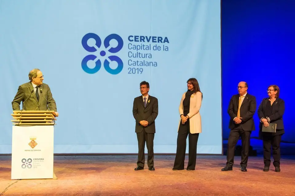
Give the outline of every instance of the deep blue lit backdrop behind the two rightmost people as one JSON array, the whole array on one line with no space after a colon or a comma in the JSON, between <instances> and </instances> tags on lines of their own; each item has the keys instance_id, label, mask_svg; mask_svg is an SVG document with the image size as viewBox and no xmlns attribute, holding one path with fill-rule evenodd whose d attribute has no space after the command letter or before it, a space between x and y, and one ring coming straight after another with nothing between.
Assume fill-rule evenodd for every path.
<instances>
[{"instance_id":1,"label":"deep blue lit backdrop behind the two rightmost people","mask_svg":"<svg viewBox=\"0 0 295 196\"><path fill-rule=\"evenodd\" d=\"M248 92L257 99L267 97L266 89L276 84L285 100L282 140L295 143L294 62L295 1L222 1L222 115L223 139L229 135L227 107L237 93L239 81L246 81ZM259 120L254 115L256 130ZM260 145L258 131L251 134L251 145Z\"/></svg>"}]
</instances>

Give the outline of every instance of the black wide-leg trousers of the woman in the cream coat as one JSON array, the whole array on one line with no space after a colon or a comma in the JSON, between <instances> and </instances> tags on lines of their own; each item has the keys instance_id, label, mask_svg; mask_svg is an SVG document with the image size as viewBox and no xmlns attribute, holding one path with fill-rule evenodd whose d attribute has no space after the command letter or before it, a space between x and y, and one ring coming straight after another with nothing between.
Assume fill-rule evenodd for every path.
<instances>
[{"instance_id":1,"label":"black wide-leg trousers of the woman in the cream coat","mask_svg":"<svg viewBox=\"0 0 295 196\"><path fill-rule=\"evenodd\" d=\"M187 147L187 135L188 135L188 164L187 169L195 169L197 159L197 143L199 133L190 133L190 122L187 120L184 125L180 123L178 136L177 136L177 149L174 161L173 169L184 169L185 150Z\"/></svg>"}]
</instances>

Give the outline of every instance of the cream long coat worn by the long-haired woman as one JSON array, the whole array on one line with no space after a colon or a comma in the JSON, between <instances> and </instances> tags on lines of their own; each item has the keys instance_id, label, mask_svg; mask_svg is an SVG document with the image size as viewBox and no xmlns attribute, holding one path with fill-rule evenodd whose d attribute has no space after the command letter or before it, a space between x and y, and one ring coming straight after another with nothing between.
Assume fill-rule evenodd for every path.
<instances>
[{"instance_id":1,"label":"cream long coat worn by the long-haired woman","mask_svg":"<svg viewBox=\"0 0 295 196\"><path fill-rule=\"evenodd\" d=\"M179 105L179 115L183 115L183 100L185 98L185 93L183 93L180 105ZM196 92L191 95L190 99L190 112L187 114L190 118L190 132L191 134L196 134L196 133L202 133L202 126L201 126L201 115L200 115L200 108L201 108L201 103L202 103L202 93L201 92ZM179 120L178 124L178 129L179 130L179 125L181 123L181 118Z\"/></svg>"}]
</instances>

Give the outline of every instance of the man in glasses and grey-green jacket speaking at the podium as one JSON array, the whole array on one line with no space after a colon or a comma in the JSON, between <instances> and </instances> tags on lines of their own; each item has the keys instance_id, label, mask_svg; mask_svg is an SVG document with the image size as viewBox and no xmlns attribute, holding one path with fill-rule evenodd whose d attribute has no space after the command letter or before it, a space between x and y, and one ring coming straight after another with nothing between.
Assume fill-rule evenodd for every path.
<instances>
[{"instance_id":1,"label":"man in glasses and grey-green jacket speaking at the podium","mask_svg":"<svg viewBox=\"0 0 295 196\"><path fill-rule=\"evenodd\" d=\"M29 73L29 82L18 87L14 100L12 101L12 109L20 110L53 110L53 115L58 116L55 100L52 97L50 88L43 83L44 77L39 69L33 69Z\"/></svg>"}]
</instances>

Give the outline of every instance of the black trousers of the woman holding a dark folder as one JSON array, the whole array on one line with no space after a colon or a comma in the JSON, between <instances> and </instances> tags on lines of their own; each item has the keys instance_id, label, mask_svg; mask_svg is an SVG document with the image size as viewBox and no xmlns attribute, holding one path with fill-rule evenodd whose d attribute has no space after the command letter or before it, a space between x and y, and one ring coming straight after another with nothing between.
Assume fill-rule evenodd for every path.
<instances>
[{"instance_id":1,"label":"black trousers of the woman holding a dark folder","mask_svg":"<svg viewBox=\"0 0 295 196\"><path fill-rule=\"evenodd\" d=\"M281 143L282 135L274 135L264 133L262 135L263 140L263 161L264 166L270 166L270 154L271 147L273 149L273 165L275 167L280 167L280 159L281 159Z\"/></svg>"}]
</instances>

